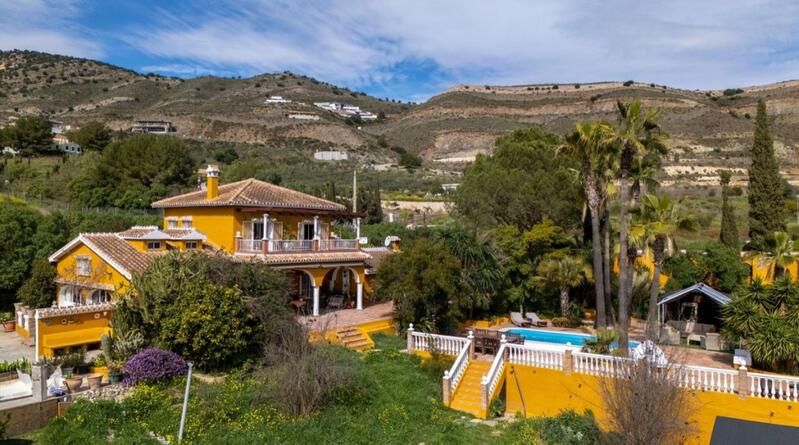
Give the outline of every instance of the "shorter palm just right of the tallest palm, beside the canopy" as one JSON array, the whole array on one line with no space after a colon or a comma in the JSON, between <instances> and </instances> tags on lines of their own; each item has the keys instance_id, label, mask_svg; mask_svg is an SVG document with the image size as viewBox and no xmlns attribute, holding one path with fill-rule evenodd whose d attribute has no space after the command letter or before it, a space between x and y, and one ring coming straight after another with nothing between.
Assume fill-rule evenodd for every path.
<instances>
[{"instance_id":1,"label":"shorter palm just right of the tallest palm, beside the canopy","mask_svg":"<svg viewBox=\"0 0 799 445\"><path fill-rule=\"evenodd\" d=\"M652 284L649 289L649 312L646 317L646 338L657 336L657 303L660 295L660 271L666 260L666 248L677 229L693 230L693 221L681 218L675 202L666 195L644 195L638 212L638 221L630 230L630 236L643 239L644 245L652 247Z\"/></svg>"}]
</instances>

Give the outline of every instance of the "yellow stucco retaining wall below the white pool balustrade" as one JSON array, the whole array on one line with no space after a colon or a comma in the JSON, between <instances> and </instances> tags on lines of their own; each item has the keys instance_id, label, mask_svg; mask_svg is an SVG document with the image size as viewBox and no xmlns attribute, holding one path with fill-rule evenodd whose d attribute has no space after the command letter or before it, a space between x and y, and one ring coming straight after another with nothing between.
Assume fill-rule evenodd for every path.
<instances>
[{"instance_id":1,"label":"yellow stucco retaining wall below the white pool balustrade","mask_svg":"<svg viewBox=\"0 0 799 445\"><path fill-rule=\"evenodd\" d=\"M553 416L562 410L591 410L601 427L607 429L598 377L561 371L512 365L522 388L527 416ZM522 411L514 376L505 369L506 412ZM799 409L795 403L748 397L736 394L691 391L691 417L697 434L689 443L708 444L718 416L799 427Z\"/></svg>"}]
</instances>

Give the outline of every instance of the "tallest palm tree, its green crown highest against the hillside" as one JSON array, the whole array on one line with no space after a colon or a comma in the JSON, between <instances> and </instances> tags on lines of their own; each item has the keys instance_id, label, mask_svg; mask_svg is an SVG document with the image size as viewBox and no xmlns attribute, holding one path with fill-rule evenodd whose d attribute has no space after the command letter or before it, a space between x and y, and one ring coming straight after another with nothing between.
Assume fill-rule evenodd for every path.
<instances>
[{"instance_id":1,"label":"tallest palm tree, its green crown highest against the hillside","mask_svg":"<svg viewBox=\"0 0 799 445\"><path fill-rule=\"evenodd\" d=\"M617 103L621 124L617 130L617 143L621 149L619 159L619 349L629 351L630 274L628 251L628 225L630 205L630 172L637 158L648 151L665 152L666 134L657 123L660 109L645 110L641 102Z\"/></svg>"}]
</instances>

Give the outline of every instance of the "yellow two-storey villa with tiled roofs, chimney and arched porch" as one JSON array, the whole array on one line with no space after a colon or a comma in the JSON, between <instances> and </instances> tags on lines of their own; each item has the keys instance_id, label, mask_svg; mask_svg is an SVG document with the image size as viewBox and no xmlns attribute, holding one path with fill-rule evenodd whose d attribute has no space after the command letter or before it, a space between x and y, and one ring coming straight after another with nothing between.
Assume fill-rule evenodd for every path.
<instances>
[{"instance_id":1,"label":"yellow two-storey villa with tiled roofs, chimney and arched porch","mask_svg":"<svg viewBox=\"0 0 799 445\"><path fill-rule=\"evenodd\" d=\"M314 316L323 305L363 308L374 258L357 239L361 214L256 179L220 185L215 166L205 174L200 190L152 204L163 209L164 229L83 233L50 256L57 270L53 306L16 305L17 331L36 344L37 357L98 343L111 329L113 296L124 294L135 274L171 250L215 251L285 271L292 280L292 304L300 311L307 306ZM356 239L336 237L332 222L350 218Z\"/></svg>"}]
</instances>

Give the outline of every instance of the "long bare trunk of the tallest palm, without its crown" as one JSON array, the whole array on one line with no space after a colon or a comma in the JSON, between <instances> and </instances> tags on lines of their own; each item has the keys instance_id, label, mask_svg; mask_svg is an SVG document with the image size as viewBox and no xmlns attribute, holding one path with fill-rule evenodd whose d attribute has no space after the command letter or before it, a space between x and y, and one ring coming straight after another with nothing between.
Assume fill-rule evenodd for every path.
<instances>
[{"instance_id":1,"label":"long bare trunk of the tallest palm, without its crown","mask_svg":"<svg viewBox=\"0 0 799 445\"><path fill-rule=\"evenodd\" d=\"M629 318L629 300L630 295L627 292L627 275L629 275L629 266L627 260L627 220L629 219L629 194L630 187L628 176L630 173L630 162L632 158L632 149L629 147L624 148L621 161L621 175L619 178L619 350L622 356L626 357L629 354L630 327Z\"/></svg>"}]
</instances>

